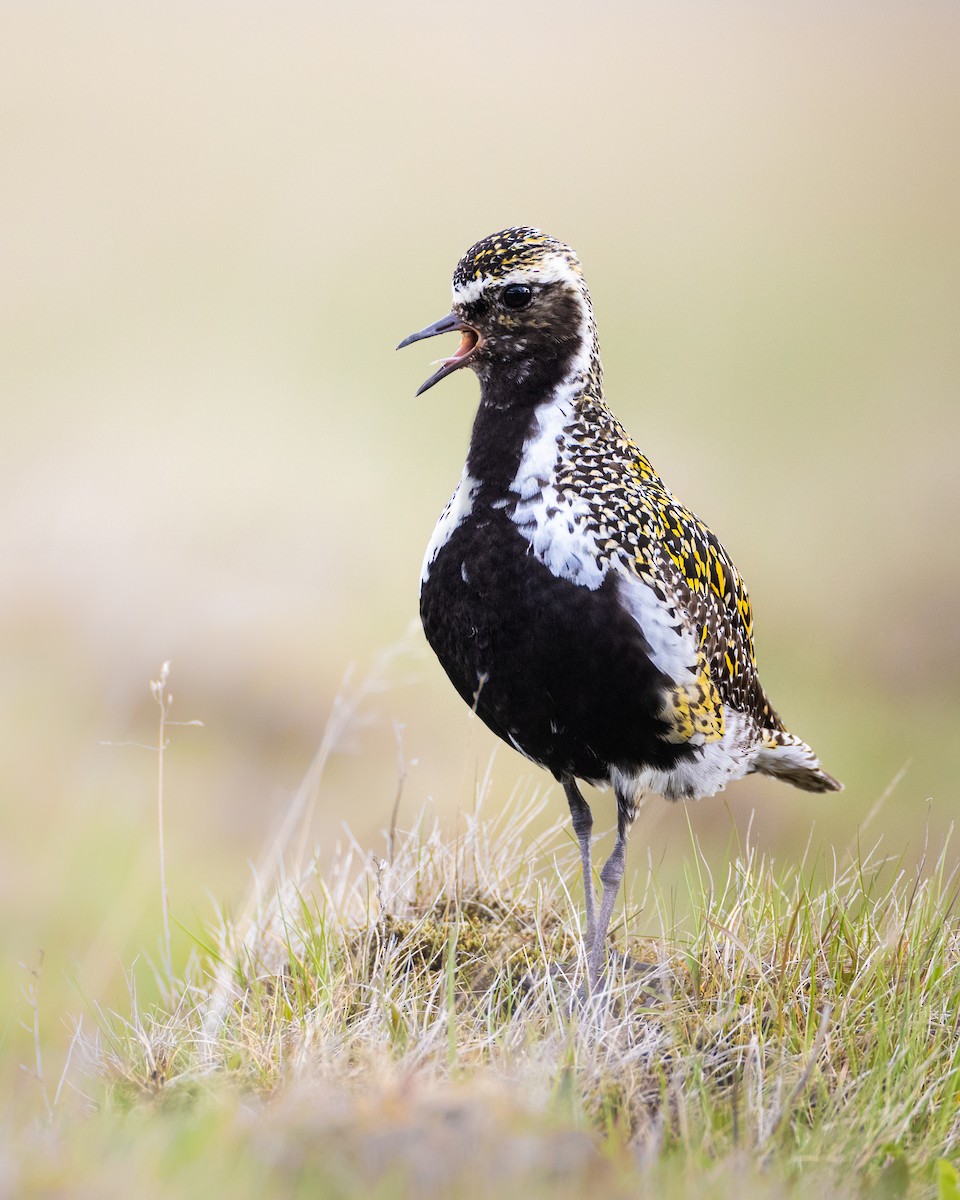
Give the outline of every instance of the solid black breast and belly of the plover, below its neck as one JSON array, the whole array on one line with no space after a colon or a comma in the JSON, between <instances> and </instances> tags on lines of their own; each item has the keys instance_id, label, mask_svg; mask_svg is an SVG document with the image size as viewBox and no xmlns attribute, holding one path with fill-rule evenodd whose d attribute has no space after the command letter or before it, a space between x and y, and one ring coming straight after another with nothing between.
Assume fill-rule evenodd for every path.
<instances>
[{"instance_id":1,"label":"solid black breast and belly of the plover, below its neck","mask_svg":"<svg viewBox=\"0 0 960 1200\"><path fill-rule=\"evenodd\" d=\"M608 575L590 592L552 575L504 509L476 498L420 593L427 641L463 700L558 778L661 769L690 751L661 740L668 680Z\"/></svg>"}]
</instances>

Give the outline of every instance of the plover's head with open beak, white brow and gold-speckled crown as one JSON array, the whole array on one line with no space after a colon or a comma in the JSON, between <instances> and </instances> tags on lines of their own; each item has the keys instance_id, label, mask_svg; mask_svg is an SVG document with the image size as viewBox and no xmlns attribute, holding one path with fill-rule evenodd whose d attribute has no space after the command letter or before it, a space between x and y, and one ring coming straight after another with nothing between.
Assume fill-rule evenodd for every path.
<instances>
[{"instance_id":1,"label":"plover's head with open beak, white brow and gold-speckled crown","mask_svg":"<svg viewBox=\"0 0 960 1200\"><path fill-rule=\"evenodd\" d=\"M484 238L457 263L450 313L410 334L397 349L438 334L460 332L460 347L418 396L460 367L470 367L491 394L542 395L596 354L593 307L580 260L564 242L516 226Z\"/></svg>"}]
</instances>

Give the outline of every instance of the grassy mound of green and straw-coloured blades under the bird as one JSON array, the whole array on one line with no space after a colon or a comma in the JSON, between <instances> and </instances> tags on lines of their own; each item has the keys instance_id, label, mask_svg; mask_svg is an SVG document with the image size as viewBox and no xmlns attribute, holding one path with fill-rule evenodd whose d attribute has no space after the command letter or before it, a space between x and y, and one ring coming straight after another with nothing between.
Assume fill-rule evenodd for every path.
<instances>
[{"instance_id":1,"label":"grassy mound of green and straw-coloured blades under the bird","mask_svg":"<svg viewBox=\"0 0 960 1200\"><path fill-rule=\"evenodd\" d=\"M383 858L259 876L182 977L157 968L158 1006L90 1004L42 1111L8 1121L0 1176L17 1194L958 1194L946 847L906 870L746 845L715 880L691 842L685 893L648 874L584 1003L576 847L563 824L534 838L536 815L446 836L421 820Z\"/></svg>"}]
</instances>

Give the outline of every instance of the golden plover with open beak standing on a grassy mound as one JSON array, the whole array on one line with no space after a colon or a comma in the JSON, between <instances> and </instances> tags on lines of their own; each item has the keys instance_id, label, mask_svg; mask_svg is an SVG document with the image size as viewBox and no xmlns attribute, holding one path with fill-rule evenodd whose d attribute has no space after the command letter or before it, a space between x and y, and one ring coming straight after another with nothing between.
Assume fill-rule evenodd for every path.
<instances>
[{"instance_id":1,"label":"golden plover with open beak standing on a grassy mound","mask_svg":"<svg viewBox=\"0 0 960 1200\"><path fill-rule=\"evenodd\" d=\"M608 407L570 246L532 226L470 246L450 313L397 349L448 332L460 346L416 395L469 367L480 402L424 558L420 617L460 696L564 788L595 990L644 794L700 799L751 773L808 792L842 785L761 686L732 558ZM617 802L599 907L581 782L612 787Z\"/></svg>"}]
</instances>

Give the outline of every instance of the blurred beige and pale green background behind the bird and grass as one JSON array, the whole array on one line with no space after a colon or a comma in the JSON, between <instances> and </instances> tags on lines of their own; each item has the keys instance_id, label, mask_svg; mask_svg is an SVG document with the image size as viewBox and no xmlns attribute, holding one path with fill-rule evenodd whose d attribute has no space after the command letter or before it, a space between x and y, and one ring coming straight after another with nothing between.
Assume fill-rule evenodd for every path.
<instances>
[{"instance_id":1,"label":"blurred beige and pale green background behind the bird and grass","mask_svg":"<svg viewBox=\"0 0 960 1200\"><path fill-rule=\"evenodd\" d=\"M5 1085L41 954L50 1073L84 995L124 1009L156 954L156 754L130 743L166 659L170 716L203 721L166 756L180 962L180 925L241 902L350 670L372 683L317 794L322 860L344 824L382 848L398 726L402 824L431 804L455 829L488 768L491 810L540 791L563 816L415 625L476 384L415 400L434 348L394 347L506 224L578 251L612 406L732 552L768 691L847 785L650 804L630 872L649 847L676 877L688 822L718 864L751 822L787 863L940 850L959 53L954 2L2 5Z\"/></svg>"}]
</instances>

